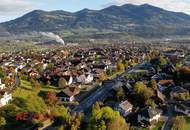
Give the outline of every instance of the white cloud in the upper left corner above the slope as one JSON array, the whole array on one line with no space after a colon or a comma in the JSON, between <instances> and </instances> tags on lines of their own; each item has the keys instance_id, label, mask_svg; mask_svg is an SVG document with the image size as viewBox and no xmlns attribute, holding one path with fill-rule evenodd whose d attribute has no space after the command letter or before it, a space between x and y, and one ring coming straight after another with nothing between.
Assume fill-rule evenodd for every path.
<instances>
[{"instance_id":1,"label":"white cloud in the upper left corner above the slope","mask_svg":"<svg viewBox=\"0 0 190 130\"><path fill-rule=\"evenodd\" d=\"M34 4L27 0L0 0L0 15L20 15L34 9Z\"/></svg>"}]
</instances>

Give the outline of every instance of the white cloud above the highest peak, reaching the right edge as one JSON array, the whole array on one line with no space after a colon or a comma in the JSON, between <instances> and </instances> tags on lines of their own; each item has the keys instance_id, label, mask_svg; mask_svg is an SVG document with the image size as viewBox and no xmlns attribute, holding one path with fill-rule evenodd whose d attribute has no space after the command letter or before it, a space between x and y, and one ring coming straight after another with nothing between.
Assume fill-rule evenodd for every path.
<instances>
[{"instance_id":1,"label":"white cloud above the highest peak, reaching the right edge","mask_svg":"<svg viewBox=\"0 0 190 130\"><path fill-rule=\"evenodd\" d=\"M111 4L151 4L157 7L164 8L166 10L175 11L175 12L184 12L190 14L190 1L189 0L107 0Z\"/></svg>"}]
</instances>

